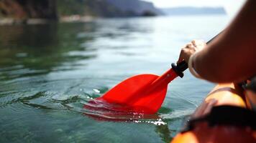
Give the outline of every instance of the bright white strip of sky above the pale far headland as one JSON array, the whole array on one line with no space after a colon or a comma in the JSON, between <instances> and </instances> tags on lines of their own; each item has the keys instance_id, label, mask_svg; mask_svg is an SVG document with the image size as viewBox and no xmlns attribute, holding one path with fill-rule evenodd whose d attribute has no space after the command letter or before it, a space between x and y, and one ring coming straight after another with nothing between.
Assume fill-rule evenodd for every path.
<instances>
[{"instance_id":1,"label":"bright white strip of sky above the pale far headland","mask_svg":"<svg viewBox=\"0 0 256 143\"><path fill-rule=\"evenodd\" d=\"M152 1L158 8L175 6L223 6L229 14L235 14L245 0L145 0Z\"/></svg>"}]
</instances>

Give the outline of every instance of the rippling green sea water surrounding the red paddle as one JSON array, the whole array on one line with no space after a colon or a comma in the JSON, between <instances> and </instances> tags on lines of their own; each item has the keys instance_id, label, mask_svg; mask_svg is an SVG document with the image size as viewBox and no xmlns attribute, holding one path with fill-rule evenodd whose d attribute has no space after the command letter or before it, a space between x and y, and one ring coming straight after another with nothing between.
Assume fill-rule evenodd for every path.
<instances>
[{"instance_id":1,"label":"rippling green sea water surrounding the red paddle","mask_svg":"<svg viewBox=\"0 0 256 143\"><path fill-rule=\"evenodd\" d=\"M83 114L83 104L134 74L162 74L181 46L211 39L228 21L173 16L0 26L0 142L170 142L214 87L188 71L169 84L157 119L99 121Z\"/></svg>"}]
</instances>

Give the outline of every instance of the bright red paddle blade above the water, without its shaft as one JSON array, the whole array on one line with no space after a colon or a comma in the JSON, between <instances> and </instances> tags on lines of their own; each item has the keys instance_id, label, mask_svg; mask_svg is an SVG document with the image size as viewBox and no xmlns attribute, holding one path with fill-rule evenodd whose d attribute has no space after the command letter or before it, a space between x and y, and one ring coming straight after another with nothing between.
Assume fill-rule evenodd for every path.
<instances>
[{"instance_id":1,"label":"bright red paddle blade above the water, without its shaft","mask_svg":"<svg viewBox=\"0 0 256 143\"><path fill-rule=\"evenodd\" d=\"M129 108L132 111L155 111L163 103L167 92L167 84L152 90L155 87L152 87L151 83L157 78L158 76L153 74L131 77L99 99L111 104L121 104L122 108Z\"/></svg>"}]
</instances>

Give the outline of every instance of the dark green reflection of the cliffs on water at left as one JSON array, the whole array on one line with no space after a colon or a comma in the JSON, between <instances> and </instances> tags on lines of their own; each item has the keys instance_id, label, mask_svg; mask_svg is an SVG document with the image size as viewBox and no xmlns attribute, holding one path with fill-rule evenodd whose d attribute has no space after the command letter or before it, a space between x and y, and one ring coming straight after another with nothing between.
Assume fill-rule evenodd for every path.
<instances>
[{"instance_id":1,"label":"dark green reflection of the cliffs on water at left","mask_svg":"<svg viewBox=\"0 0 256 143\"><path fill-rule=\"evenodd\" d=\"M73 62L95 57L93 50L87 55L69 53L87 51L86 47L80 44L92 39L84 37L76 40L76 26L1 26L0 65L1 74L4 74L1 78L8 80L70 70L77 66ZM63 29L73 30L66 33Z\"/></svg>"}]
</instances>

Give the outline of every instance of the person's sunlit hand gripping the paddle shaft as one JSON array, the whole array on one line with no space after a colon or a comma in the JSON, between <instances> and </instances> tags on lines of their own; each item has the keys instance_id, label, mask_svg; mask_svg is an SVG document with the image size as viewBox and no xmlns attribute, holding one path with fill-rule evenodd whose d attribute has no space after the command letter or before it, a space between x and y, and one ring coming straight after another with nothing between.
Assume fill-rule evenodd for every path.
<instances>
[{"instance_id":1,"label":"person's sunlit hand gripping the paddle shaft","mask_svg":"<svg viewBox=\"0 0 256 143\"><path fill-rule=\"evenodd\" d=\"M206 43L201 40L193 40L190 43L186 44L180 51L180 57L177 63L185 60L188 63L188 59L191 55L195 54L198 51L201 51L206 46Z\"/></svg>"}]
</instances>

